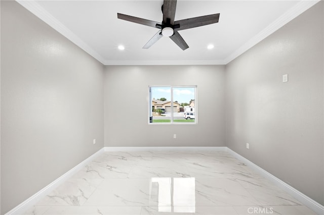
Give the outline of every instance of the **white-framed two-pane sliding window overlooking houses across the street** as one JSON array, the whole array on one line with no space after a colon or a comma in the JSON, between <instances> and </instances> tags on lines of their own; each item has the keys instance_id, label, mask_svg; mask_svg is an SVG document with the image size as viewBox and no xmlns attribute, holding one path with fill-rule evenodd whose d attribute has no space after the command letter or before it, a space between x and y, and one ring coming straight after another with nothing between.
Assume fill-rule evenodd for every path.
<instances>
[{"instance_id":1,"label":"white-framed two-pane sliding window overlooking houses across the street","mask_svg":"<svg viewBox=\"0 0 324 215\"><path fill-rule=\"evenodd\" d=\"M149 86L150 124L196 124L196 86Z\"/></svg>"}]
</instances>

